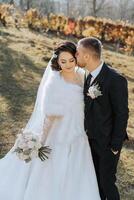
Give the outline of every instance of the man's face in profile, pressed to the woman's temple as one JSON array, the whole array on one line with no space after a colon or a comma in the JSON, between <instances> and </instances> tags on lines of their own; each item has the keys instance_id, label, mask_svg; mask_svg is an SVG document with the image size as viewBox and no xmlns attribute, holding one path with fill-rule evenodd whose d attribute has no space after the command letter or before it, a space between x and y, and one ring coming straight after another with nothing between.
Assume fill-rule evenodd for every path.
<instances>
[{"instance_id":1,"label":"man's face in profile, pressed to the woman's temple","mask_svg":"<svg viewBox=\"0 0 134 200\"><path fill-rule=\"evenodd\" d=\"M85 49L79 43L77 46L76 59L79 67L84 68L86 66Z\"/></svg>"}]
</instances>

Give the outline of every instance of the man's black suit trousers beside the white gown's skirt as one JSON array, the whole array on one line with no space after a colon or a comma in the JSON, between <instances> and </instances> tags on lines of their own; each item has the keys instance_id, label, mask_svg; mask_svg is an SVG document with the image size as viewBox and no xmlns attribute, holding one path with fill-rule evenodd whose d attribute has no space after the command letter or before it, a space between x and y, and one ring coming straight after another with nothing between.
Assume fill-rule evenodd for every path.
<instances>
[{"instance_id":1,"label":"man's black suit trousers beside the white gown's skirt","mask_svg":"<svg viewBox=\"0 0 134 200\"><path fill-rule=\"evenodd\" d=\"M116 182L120 151L114 155L110 147L103 148L95 139L89 139L101 200L120 200Z\"/></svg>"}]
</instances>

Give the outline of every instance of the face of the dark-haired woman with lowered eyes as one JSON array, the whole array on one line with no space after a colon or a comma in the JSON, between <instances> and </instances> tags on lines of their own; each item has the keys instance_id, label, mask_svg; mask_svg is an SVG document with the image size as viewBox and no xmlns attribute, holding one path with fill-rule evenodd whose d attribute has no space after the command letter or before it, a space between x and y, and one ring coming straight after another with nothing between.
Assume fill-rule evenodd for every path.
<instances>
[{"instance_id":1,"label":"face of the dark-haired woman with lowered eyes","mask_svg":"<svg viewBox=\"0 0 134 200\"><path fill-rule=\"evenodd\" d=\"M58 64L64 72L72 72L76 66L76 59L69 52L61 52L58 59Z\"/></svg>"}]
</instances>

